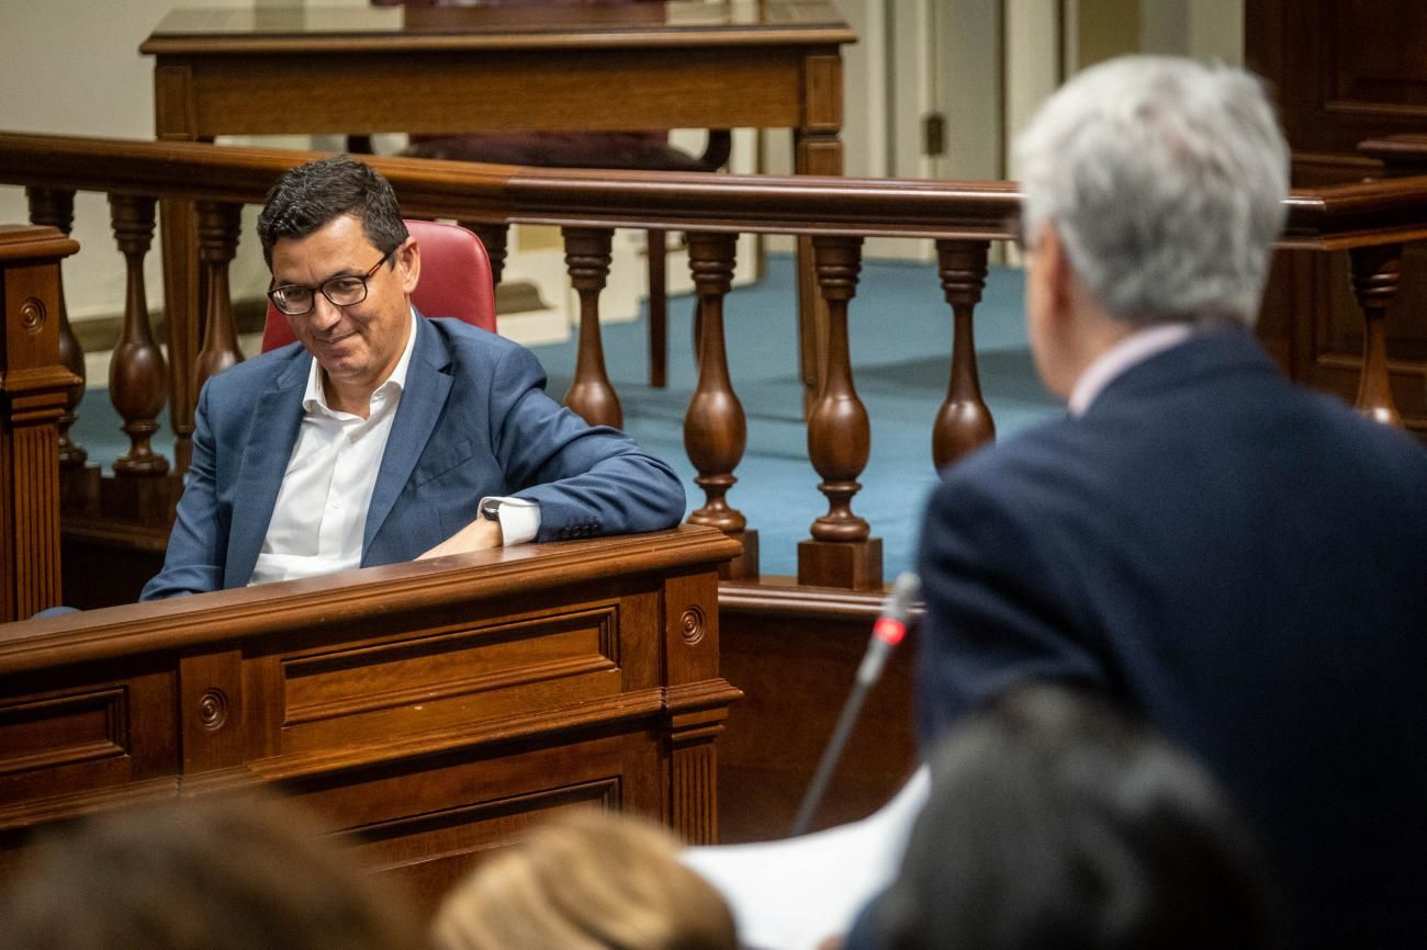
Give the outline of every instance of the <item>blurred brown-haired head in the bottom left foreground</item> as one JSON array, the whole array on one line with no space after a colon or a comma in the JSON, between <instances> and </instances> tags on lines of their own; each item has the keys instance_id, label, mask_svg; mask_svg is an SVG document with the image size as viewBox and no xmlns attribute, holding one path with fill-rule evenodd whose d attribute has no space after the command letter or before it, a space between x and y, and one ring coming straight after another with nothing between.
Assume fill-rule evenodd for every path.
<instances>
[{"instance_id":1,"label":"blurred brown-haired head in the bottom left foreground","mask_svg":"<svg viewBox=\"0 0 1427 950\"><path fill-rule=\"evenodd\" d=\"M411 950L420 929L268 796L86 819L0 899L4 950Z\"/></svg>"}]
</instances>

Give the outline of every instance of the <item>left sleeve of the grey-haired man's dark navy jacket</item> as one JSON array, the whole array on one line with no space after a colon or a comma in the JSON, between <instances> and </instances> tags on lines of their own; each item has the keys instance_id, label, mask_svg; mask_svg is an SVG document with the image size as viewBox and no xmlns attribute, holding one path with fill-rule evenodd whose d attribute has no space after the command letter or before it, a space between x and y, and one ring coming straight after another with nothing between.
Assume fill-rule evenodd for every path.
<instances>
[{"instance_id":1,"label":"left sleeve of the grey-haired man's dark navy jacket","mask_svg":"<svg viewBox=\"0 0 1427 950\"><path fill-rule=\"evenodd\" d=\"M1102 643L1077 616L1079 595L1050 519L1015 476L953 475L932 495L919 552L926 613L916 666L923 750L963 713L1033 680L1104 686ZM1007 482L1010 486L1007 486ZM1015 501L1013 501L1015 499ZM1050 531L1047 531L1050 529Z\"/></svg>"}]
</instances>

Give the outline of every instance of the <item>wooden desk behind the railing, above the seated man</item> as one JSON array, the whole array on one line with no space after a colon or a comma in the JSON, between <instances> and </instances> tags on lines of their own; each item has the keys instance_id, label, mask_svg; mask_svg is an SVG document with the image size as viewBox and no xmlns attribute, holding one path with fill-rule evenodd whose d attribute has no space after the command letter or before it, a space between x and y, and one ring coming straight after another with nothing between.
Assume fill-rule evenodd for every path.
<instances>
[{"instance_id":1,"label":"wooden desk behind the railing, above the seated man","mask_svg":"<svg viewBox=\"0 0 1427 950\"><path fill-rule=\"evenodd\" d=\"M539 7L174 10L154 56L158 138L305 133L792 128L798 174L842 174L842 56L831 0ZM191 210L163 208L176 429L191 429ZM801 349L822 321L801 248ZM180 459L180 468L187 459Z\"/></svg>"}]
</instances>

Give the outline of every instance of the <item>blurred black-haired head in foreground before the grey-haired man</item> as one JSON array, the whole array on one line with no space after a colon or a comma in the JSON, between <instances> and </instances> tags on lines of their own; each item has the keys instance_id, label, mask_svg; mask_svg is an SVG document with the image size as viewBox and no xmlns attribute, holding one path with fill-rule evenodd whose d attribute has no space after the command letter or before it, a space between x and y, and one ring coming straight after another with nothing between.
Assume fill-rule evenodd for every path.
<instances>
[{"instance_id":1,"label":"blurred black-haired head in foreground before the grey-haired man","mask_svg":"<svg viewBox=\"0 0 1427 950\"><path fill-rule=\"evenodd\" d=\"M938 746L873 921L890 950L1263 950L1267 882L1196 762L1096 698L1023 686Z\"/></svg>"}]
</instances>

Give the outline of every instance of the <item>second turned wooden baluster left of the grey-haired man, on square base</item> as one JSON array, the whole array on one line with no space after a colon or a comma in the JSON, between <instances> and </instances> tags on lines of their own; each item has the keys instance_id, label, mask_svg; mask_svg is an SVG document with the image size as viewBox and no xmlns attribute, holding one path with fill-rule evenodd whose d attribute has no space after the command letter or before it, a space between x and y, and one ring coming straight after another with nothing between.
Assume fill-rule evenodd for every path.
<instances>
[{"instance_id":1,"label":"second turned wooden baluster left of the grey-haired man, on square base","mask_svg":"<svg viewBox=\"0 0 1427 950\"><path fill-rule=\"evenodd\" d=\"M872 427L852 385L848 301L858 291L862 238L812 238L818 290L828 304L828 361L822 392L808 417L808 458L828 496L828 514L812 523L812 541L798 543L798 583L852 589L882 586L882 539L852 514L852 496L868 465Z\"/></svg>"}]
</instances>

